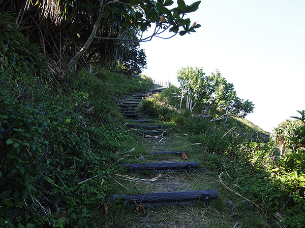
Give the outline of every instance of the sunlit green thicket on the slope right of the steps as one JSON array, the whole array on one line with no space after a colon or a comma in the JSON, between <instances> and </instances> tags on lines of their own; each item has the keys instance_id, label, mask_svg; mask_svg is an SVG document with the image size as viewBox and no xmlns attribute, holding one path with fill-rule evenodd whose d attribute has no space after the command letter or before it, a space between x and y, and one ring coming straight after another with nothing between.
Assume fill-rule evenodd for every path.
<instances>
[{"instance_id":1,"label":"sunlit green thicket on the slope right of the steps","mask_svg":"<svg viewBox=\"0 0 305 228\"><path fill-rule=\"evenodd\" d=\"M146 115L176 126L194 143L202 143L207 153L216 153L234 161L225 165L235 170L223 178L234 183L234 190L276 216L286 227L305 225L305 112L295 117L303 124L286 138L287 153L266 137L266 132L253 128L238 118L210 122L195 111L180 109L179 88L171 87L162 94L142 102ZM186 101L184 101L186 102ZM197 110L200 111L200 110ZM210 164L217 167L215 164ZM225 172L225 170L221 170Z\"/></svg>"}]
</instances>

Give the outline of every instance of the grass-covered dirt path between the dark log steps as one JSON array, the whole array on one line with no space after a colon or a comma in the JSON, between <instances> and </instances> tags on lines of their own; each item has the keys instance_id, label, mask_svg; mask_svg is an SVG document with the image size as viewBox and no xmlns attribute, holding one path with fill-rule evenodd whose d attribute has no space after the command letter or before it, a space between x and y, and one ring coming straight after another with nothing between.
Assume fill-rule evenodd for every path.
<instances>
[{"instance_id":1,"label":"grass-covered dirt path between the dark log steps","mask_svg":"<svg viewBox=\"0 0 305 228\"><path fill-rule=\"evenodd\" d=\"M145 119L144 113L140 118ZM130 150L120 156L122 163L199 162L199 171L167 173L124 173L113 175L113 194L145 194L201 191L217 189L219 197L209 204L128 209L123 200L104 205L105 215L95 222L104 227L272 227L269 215L243 197L229 191L223 183L238 190L240 181L256 171L245 162L207 150L204 143L196 143L189 130L175 124L154 121L130 124L162 126L163 135L138 134ZM131 125L130 125L131 126ZM136 126L137 127L137 126ZM130 127L130 132L140 128ZM151 151L185 151L181 154L150 154ZM122 173L123 174L123 173ZM262 175L262 174L260 174ZM220 179L221 177L221 179ZM260 176L264 178L263 176ZM139 179L132 179L139 178ZM141 180L145 179L145 180ZM249 181L249 179L248 179ZM248 183L250 184L250 183ZM246 193L241 191L240 194ZM248 197L245 194L245 197ZM272 219L271 219L272 220ZM273 221L271 221L273 223Z\"/></svg>"}]
</instances>

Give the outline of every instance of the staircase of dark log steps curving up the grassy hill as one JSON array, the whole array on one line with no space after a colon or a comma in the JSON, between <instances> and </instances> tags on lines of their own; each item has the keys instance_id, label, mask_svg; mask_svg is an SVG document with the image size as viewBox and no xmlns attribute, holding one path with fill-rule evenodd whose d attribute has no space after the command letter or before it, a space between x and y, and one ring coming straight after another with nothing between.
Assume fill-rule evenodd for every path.
<instances>
[{"instance_id":1,"label":"staircase of dark log steps curving up the grassy hill","mask_svg":"<svg viewBox=\"0 0 305 228\"><path fill-rule=\"evenodd\" d=\"M135 94L126 100L120 102L119 108L121 114L126 118L131 120L132 124L126 124L130 129L141 134L147 140L149 137L153 138L166 134L166 127L154 125L153 120L147 120L143 115L139 113L139 105L143 99L147 97L160 93L165 88L154 88L147 93ZM131 122L130 121L130 122ZM147 137L146 137L147 136ZM161 139L162 140L162 139ZM188 159L184 151L150 151L148 153L150 156L157 156L162 160L162 156L179 156L180 160ZM173 157L172 157L173 158ZM173 159L174 160L174 159ZM176 159L175 159L176 160ZM132 163L132 164L122 164L130 173L137 175L145 175L147 173L184 173L184 172L205 172L201 167L199 167L199 162L186 162L186 161L161 161L154 163ZM165 182L162 183L165 190L169 189L168 186L173 185L173 183ZM141 194L115 194L111 198L112 200L121 199L125 202L128 208L138 208L139 205L144 208L149 207L163 207L168 205L188 205L196 204L199 201L203 203L208 203L210 200L215 199L218 196L216 189L202 189L200 191L172 191L168 192L144 192Z\"/></svg>"}]
</instances>

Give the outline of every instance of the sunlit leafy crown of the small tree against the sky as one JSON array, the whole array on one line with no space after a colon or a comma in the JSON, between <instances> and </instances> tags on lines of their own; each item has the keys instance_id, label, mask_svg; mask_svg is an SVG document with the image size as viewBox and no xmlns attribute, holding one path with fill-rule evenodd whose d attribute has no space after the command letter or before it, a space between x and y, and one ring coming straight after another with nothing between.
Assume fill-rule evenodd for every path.
<instances>
[{"instance_id":1,"label":"sunlit leafy crown of the small tree against the sky","mask_svg":"<svg viewBox=\"0 0 305 228\"><path fill-rule=\"evenodd\" d=\"M182 91L202 108L204 117L231 115L244 118L254 109L252 101L237 97L233 84L228 83L219 70L205 75L203 68L182 67L177 78Z\"/></svg>"}]
</instances>

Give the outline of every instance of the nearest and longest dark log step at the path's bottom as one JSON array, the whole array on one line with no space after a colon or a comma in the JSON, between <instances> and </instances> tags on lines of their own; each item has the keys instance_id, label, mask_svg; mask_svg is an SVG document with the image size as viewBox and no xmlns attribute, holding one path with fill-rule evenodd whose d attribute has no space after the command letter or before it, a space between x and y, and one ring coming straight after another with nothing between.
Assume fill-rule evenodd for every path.
<instances>
[{"instance_id":1,"label":"nearest and longest dark log step at the path's bottom","mask_svg":"<svg viewBox=\"0 0 305 228\"><path fill-rule=\"evenodd\" d=\"M126 194L112 195L112 200L124 200L127 208L135 208L142 205L148 207L163 207L169 205L196 204L198 202L209 203L212 199L218 197L216 189L188 192L166 192L166 193L144 193L144 194Z\"/></svg>"}]
</instances>

